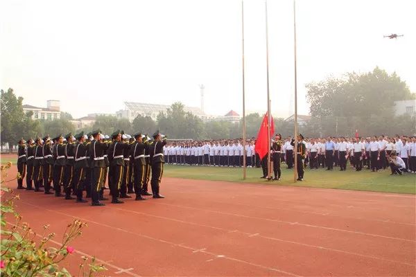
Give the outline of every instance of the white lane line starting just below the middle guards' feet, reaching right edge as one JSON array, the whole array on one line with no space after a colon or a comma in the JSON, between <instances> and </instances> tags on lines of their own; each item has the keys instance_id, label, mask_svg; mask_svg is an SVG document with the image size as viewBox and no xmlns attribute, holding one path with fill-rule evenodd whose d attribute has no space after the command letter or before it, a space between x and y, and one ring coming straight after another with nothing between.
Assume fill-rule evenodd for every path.
<instances>
[{"instance_id":1,"label":"white lane line starting just below the middle guards' feet, reaching right edge","mask_svg":"<svg viewBox=\"0 0 416 277\"><path fill-rule=\"evenodd\" d=\"M327 250L327 251L336 251L336 252L339 252L339 253L345 253L345 254L354 255L354 256L360 256L360 257L365 257L365 258L372 258L372 259L375 259L375 260L385 260L387 262L394 262L394 263L399 263L399 264L402 264L402 265L411 265L411 266L414 266L413 264L410 264L408 262L401 262L401 261L398 261L398 260L389 260L389 259L386 259L386 258L381 258L381 257L371 256L371 255L365 255L365 254L351 252L351 251L344 251L344 250L340 250L340 249L333 249L333 248L329 248L329 247L322 247L322 246L313 245L313 244L306 244L306 243L302 243L302 242L295 242L293 240L281 240L279 238L271 238L271 237L268 237L268 236L265 236L265 235L260 235L258 233L256 233L256 234L253 235L253 234L245 233L245 232L239 231L239 230L229 231L227 229L218 228L218 227L215 227L215 226L209 226L209 225L205 225L205 224L198 224L198 223L194 223L194 222L187 222L187 221L184 221L184 220L176 220L176 219L173 219L171 217L162 217L162 216L159 216L159 215L152 215L152 214L149 214L149 213L141 213L141 212L137 212L137 211L130 211L130 210L126 210L126 209L123 209L123 208L116 208L116 209L117 210L120 210L120 211L129 212L129 213L136 213L138 215L147 215L149 217L156 217L156 218L160 218L160 219L164 219L164 220L170 220L170 221L173 221L173 222L180 222L180 223L183 223L183 224L189 224L189 225L194 225L194 226L201 226L201 227L205 227L205 228L215 229L215 230L218 230L218 231L225 231L227 233L240 233L240 234L243 234L243 235L248 235L249 237L250 236L257 236L258 238L263 238L263 239L266 239L266 240L275 240L275 241L285 242L285 243L289 243L289 244L302 245L304 247L311 247L311 248L316 248L316 249L324 249L324 250Z\"/></svg>"}]
</instances>

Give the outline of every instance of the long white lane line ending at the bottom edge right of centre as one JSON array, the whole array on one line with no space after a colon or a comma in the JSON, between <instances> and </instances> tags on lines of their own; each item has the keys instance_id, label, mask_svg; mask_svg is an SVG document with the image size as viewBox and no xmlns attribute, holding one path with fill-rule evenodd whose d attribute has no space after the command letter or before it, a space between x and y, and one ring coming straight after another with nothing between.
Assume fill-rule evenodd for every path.
<instances>
[{"instance_id":1,"label":"long white lane line ending at the bottom edge right of centre","mask_svg":"<svg viewBox=\"0 0 416 277\"><path fill-rule=\"evenodd\" d=\"M137 236L139 236L139 237L141 237L141 238L147 238L147 239L149 239L149 240L154 240L154 241L157 241L157 242L162 242L162 243L164 243L164 244L170 244L170 245L173 245L173 246L175 246L175 247L180 247L180 248L188 249L188 250L191 250L191 251L195 251L195 250L197 250L197 249L194 249L194 248L192 248L192 247L187 247L187 246L184 246L183 244L177 244L177 243L175 243L175 242L169 242L168 240L160 240L160 239L158 239L158 238L153 238L153 237L150 237L149 235L144 235L144 234L141 234L141 233L135 233L135 232L132 232L132 231L128 231L128 230L121 229L121 228L115 228L114 226L110 226L110 225L103 224L103 223L100 223L100 222L94 222L94 221L92 221L92 220L88 220L87 218L83 218L83 217L74 217L73 215L69 215L69 214L67 214L67 213L62 213L62 212L59 212L59 211L51 210L51 209L49 209L49 208L45 208L45 207L43 207L43 206L37 206L37 205L31 204L31 203L28 203L28 202L24 202L24 201L22 201L21 203L24 203L24 204L29 205L29 206L34 206L34 207L37 207L37 208L42 208L42 209L44 209L45 211L50 211L50 212L53 212L53 213L58 213L58 214L60 214L60 215L65 215L65 216L67 216L67 217L71 217L71 218L78 218L78 219L80 219L80 220L84 220L85 222L91 222L91 223L97 224L97 225L99 225L99 226L105 226L105 227L107 227L107 228L114 229L114 230L116 230L116 231L122 231L122 232L124 232L124 233L130 233L130 234L132 234L132 235L137 235ZM214 257L218 256L218 254L216 254L216 253L208 252L208 251L205 251L205 250L202 250L202 251L200 251L200 252L201 252L201 253L207 253L207 254L209 254L209 255L211 255L211 256L214 256ZM276 272L279 272L279 273L281 273L281 274L286 274L286 275L289 275L289 276L300 276L300 275L293 274L293 273L291 273L291 272L283 271L283 270L280 270L280 269L276 269L276 268L273 268L273 267L266 267L266 266L264 266L264 265L258 265L258 264L255 264L254 262L247 262L247 261L245 261L245 260L239 260L239 259L237 259L237 258L232 258L232 257L228 257L228 256L224 256L224 258L225 258L225 259L227 259L227 260L232 260L232 261L234 261L234 262L241 262L241 263L246 264L246 265L252 265L253 267L259 267L259 268L261 268L261 269L267 269L267 270L270 270L270 271L276 271ZM122 270L122 269L119 269L119 270ZM126 272L126 273L127 273L127 274L129 274L129 272L130 272L130 271L128 271L128 272Z\"/></svg>"}]
</instances>

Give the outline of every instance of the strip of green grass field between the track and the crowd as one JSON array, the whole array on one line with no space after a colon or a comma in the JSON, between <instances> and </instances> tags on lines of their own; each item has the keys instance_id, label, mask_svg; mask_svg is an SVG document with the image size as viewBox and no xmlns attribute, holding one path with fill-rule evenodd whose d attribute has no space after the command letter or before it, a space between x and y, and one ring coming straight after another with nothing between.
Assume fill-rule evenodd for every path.
<instances>
[{"instance_id":1,"label":"strip of green grass field between the track and the crowd","mask_svg":"<svg viewBox=\"0 0 416 277\"><path fill-rule=\"evenodd\" d=\"M2 155L1 164L11 161L16 163L15 157ZM209 166L165 166L164 177L232 181L239 183L264 184L267 186L304 186L311 188L336 188L342 190L367 190L383 193L416 194L416 174L408 173L403 176L390 175L390 170L370 172L363 170L340 172L338 168L333 171L305 170L304 181L293 182L293 170L287 170L282 164L281 181L267 181L260 179L261 168L247 168L247 178L243 180L243 168L218 168Z\"/></svg>"}]
</instances>

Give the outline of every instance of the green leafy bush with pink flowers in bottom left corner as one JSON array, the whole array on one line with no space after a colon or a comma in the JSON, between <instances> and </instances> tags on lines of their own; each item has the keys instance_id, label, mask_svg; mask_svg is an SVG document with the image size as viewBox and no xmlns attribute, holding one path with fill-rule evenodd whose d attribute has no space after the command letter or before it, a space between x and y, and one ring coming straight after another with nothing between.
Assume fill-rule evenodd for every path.
<instances>
[{"instance_id":1,"label":"green leafy bush with pink flowers in bottom left corner","mask_svg":"<svg viewBox=\"0 0 416 277\"><path fill-rule=\"evenodd\" d=\"M11 163L1 166L1 276L71 276L67 269L59 266L59 263L75 251L69 244L82 234L87 224L80 220L73 220L64 231L60 247L49 247L55 237L55 233L46 233L49 224L43 226L42 234L37 234L28 223L22 222L22 217L15 211L15 201L19 199L19 195L15 195L4 184L21 176L18 173L16 178L6 181L7 170L10 166L12 166ZM13 218L15 222L8 222ZM86 260L87 258L83 257L78 276L94 276L106 270L103 265L96 265L95 258L92 259L89 269L84 270L83 265Z\"/></svg>"}]
</instances>

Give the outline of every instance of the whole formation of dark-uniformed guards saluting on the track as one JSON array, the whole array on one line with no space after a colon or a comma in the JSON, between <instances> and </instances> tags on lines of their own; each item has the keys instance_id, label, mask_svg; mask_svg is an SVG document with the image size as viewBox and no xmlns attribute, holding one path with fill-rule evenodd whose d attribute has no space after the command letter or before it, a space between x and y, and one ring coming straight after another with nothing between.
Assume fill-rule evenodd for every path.
<instances>
[{"instance_id":1,"label":"whole formation of dark-uniformed guards saluting on the track","mask_svg":"<svg viewBox=\"0 0 416 277\"><path fill-rule=\"evenodd\" d=\"M105 136L99 129L75 136L59 134L27 142L21 139L17 159L21 178L17 188L75 199L78 203L91 198L92 206L104 206L108 179L113 204L122 204L120 198L132 198L129 194L133 193L138 201L146 200L144 196L148 195L164 198L159 186L165 145L166 136L159 131L153 139L140 133L130 136L120 130ZM148 192L149 181L152 193Z\"/></svg>"}]
</instances>

